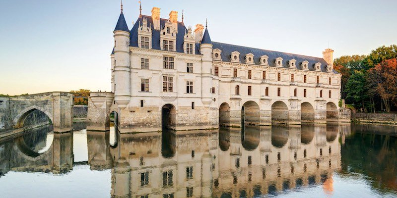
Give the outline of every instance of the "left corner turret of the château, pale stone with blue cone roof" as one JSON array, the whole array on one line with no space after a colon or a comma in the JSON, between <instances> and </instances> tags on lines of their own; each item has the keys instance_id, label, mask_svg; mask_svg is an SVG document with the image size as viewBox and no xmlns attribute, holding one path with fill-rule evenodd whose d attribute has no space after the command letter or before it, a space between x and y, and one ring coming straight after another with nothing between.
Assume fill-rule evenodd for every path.
<instances>
[{"instance_id":1,"label":"left corner turret of the ch\u00e2teau, pale stone with blue cone roof","mask_svg":"<svg viewBox=\"0 0 397 198\"><path fill-rule=\"evenodd\" d=\"M123 3L121 13L114 33L114 85L117 105L124 109L130 102L130 32L123 14Z\"/></svg>"}]
</instances>

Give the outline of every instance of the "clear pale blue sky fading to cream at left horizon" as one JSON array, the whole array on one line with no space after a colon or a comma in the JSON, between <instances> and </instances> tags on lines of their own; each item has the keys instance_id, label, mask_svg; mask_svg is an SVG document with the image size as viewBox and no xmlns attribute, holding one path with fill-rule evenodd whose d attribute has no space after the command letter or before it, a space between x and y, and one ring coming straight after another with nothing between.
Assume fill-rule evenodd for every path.
<instances>
[{"instance_id":1,"label":"clear pale blue sky fading to cream at left horizon","mask_svg":"<svg viewBox=\"0 0 397 198\"><path fill-rule=\"evenodd\" d=\"M212 41L334 58L397 44L397 0L141 0L205 24ZM129 28L138 0L124 0ZM1 0L0 94L110 91L120 0Z\"/></svg>"}]
</instances>

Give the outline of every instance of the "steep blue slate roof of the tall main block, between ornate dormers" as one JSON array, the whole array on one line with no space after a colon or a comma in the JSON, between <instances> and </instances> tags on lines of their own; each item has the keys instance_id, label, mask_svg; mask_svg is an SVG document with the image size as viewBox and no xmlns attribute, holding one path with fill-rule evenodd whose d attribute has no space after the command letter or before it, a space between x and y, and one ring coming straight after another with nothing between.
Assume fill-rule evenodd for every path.
<instances>
[{"instance_id":1,"label":"steep blue slate roof of the tall main block, between ornate dormers","mask_svg":"<svg viewBox=\"0 0 397 198\"><path fill-rule=\"evenodd\" d=\"M142 24L142 19L145 17L147 19L147 25L150 24L150 27L152 28L152 49L161 49L160 48L160 31L155 30L153 28L153 19L151 16L146 16L146 15L141 15L139 18L136 20L135 24L133 25L131 31L130 31L130 46L132 47L138 47L138 27L139 23ZM160 18L160 27L165 26L165 21L167 19ZM176 51L177 52L184 52L183 49L183 41L184 41L184 36L185 36L185 31L187 32L187 28L182 22L178 22L178 33L177 33L177 38L176 38ZM195 54L200 54L199 51L199 46L196 44L196 52Z\"/></svg>"}]
</instances>

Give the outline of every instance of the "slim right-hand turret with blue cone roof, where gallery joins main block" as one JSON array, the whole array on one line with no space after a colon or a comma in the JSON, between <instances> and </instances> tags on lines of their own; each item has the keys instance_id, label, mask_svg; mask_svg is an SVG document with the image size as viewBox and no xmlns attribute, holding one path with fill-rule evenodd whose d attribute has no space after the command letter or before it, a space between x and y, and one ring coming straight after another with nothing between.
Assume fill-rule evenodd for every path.
<instances>
[{"instance_id":1,"label":"slim right-hand turret with blue cone roof, where gallery joins main block","mask_svg":"<svg viewBox=\"0 0 397 198\"><path fill-rule=\"evenodd\" d=\"M209 106L212 101L212 42L209 37L207 25L205 25L205 32L200 44L200 52L202 54L202 80L201 80L201 101L204 106Z\"/></svg>"}]
</instances>

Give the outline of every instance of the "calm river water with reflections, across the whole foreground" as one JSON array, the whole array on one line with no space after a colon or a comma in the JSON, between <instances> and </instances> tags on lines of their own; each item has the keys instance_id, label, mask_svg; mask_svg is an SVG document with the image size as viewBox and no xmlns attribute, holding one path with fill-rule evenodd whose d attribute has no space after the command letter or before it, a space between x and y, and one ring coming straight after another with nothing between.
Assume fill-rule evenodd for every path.
<instances>
[{"instance_id":1,"label":"calm river water with reflections, across the whole foreground","mask_svg":"<svg viewBox=\"0 0 397 198\"><path fill-rule=\"evenodd\" d=\"M117 134L84 124L0 140L0 197L397 197L397 127Z\"/></svg>"}]
</instances>

